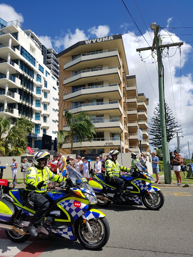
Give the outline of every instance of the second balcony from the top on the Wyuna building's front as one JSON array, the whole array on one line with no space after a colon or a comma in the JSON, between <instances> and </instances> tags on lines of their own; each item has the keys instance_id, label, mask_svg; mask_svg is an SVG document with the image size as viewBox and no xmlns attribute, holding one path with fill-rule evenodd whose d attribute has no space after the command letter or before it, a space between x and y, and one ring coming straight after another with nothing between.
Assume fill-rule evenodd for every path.
<instances>
[{"instance_id":1,"label":"second balcony from the top on the Wyuna building's front","mask_svg":"<svg viewBox=\"0 0 193 257\"><path fill-rule=\"evenodd\" d=\"M64 85L71 83L72 86L92 83L93 77L99 77L100 81L109 80L109 82L121 83L121 76L118 66L103 67L91 70L82 70L64 79ZM98 78L99 79L99 78Z\"/></svg>"}]
</instances>

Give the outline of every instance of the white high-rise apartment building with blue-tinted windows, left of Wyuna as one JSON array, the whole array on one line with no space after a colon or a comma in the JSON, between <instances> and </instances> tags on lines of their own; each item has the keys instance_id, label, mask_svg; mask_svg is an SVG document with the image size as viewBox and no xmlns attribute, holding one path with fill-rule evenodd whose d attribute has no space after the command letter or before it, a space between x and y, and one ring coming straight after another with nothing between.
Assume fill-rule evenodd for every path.
<instances>
[{"instance_id":1,"label":"white high-rise apartment building with blue-tinted windows, left of Wyuna","mask_svg":"<svg viewBox=\"0 0 193 257\"><path fill-rule=\"evenodd\" d=\"M0 116L35 124L29 145L57 151L59 63L19 21L0 19Z\"/></svg>"}]
</instances>

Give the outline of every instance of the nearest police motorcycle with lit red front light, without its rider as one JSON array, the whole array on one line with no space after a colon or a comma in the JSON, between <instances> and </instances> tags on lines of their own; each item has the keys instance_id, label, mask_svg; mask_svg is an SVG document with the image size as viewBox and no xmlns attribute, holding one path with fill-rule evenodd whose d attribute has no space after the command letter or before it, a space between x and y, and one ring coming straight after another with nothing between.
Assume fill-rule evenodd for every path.
<instances>
[{"instance_id":1,"label":"nearest police motorcycle with lit red front light, without its rider","mask_svg":"<svg viewBox=\"0 0 193 257\"><path fill-rule=\"evenodd\" d=\"M66 240L78 239L90 250L100 249L108 242L109 223L104 213L92 208L97 199L88 181L72 166L66 165L66 170L68 178L44 195L50 206L36 231L42 238L54 234ZM30 237L28 225L35 210L24 206L24 188L9 187L5 179L0 179L0 185L4 185L0 198L0 229L5 230L11 241L24 242ZM58 186L60 189L55 189Z\"/></svg>"}]
</instances>

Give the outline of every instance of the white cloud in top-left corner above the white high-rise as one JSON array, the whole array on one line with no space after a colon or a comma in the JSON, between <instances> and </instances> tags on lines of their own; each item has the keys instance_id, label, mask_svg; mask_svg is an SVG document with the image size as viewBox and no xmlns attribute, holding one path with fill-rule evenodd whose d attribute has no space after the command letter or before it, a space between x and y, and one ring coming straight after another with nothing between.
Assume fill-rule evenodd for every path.
<instances>
[{"instance_id":1,"label":"white cloud in top-left corner above the white high-rise","mask_svg":"<svg viewBox=\"0 0 193 257\"><path fill-rule=\"evenodd\" d=\"M5 21L15 21L23 22L23 15L21 13L17 13L15 9L8 4L0 4L0 17Z\"/></svg>"}]
</instances>

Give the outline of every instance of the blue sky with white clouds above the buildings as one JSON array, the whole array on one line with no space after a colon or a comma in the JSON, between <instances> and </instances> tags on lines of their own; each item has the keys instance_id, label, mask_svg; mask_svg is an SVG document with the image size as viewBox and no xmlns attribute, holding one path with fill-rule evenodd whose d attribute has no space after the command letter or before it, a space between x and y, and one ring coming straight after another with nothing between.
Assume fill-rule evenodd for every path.
<instances>
[{"instance_id":1,"label":"blue sky with white clouds above the buildings","mask_svg":"<svg viewBox=\"0 0 193 257\"><path fill-rule=\"evenodd\" d=\"M142 51L140 58L136 48L152 45L154 35L150 24L153 22L163 28L159 31L163 44L183 41L181 51L179 48L171 47L163 52L166 56L163 56L164 89L171 114L178 125L181 125L180 136L183 136L180 137L180 146L183 147L181 153L188 153L189 141L191 157L193 23L190 10L193 1L124 0L124 3L133 19L121 0L97 2L10 0L8 3L0 1L0 17L5 21L19 20L26 29L38 35L47 48L53 47L57 52L81 40L122 34L129 75L136 75L138 93L144 93L146 98L149 98L148 123L154 116L153 111L159 101L157 62L156 56L155 59L152 58L150 50ZM175 29L172 29L173 27ZM177 147L176 137L169 143L171 151L175 150L175 147ZM150 149L153 150L153 147L150 146Z\"/></svg>"}]
</instances>

